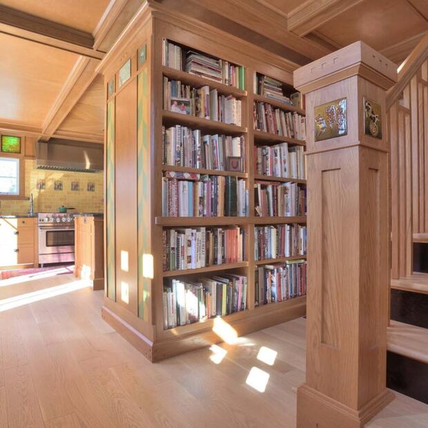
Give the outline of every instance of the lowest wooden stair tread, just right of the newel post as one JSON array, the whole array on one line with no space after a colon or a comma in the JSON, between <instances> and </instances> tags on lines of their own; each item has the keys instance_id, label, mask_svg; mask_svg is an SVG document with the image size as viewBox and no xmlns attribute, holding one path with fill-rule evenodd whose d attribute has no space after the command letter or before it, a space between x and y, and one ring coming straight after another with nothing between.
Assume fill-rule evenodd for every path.
<instances>
[{"instance_id":1,"label":"lowest wooden stair tread, just right of the newel post","mask_svg":"<svg viewBox=\"0 0 428 428\"><path fill-rule=\"evenodd\" d=\"M391 320L388 351L428 364L428 329Z\"/></svg>"}]
</instances>

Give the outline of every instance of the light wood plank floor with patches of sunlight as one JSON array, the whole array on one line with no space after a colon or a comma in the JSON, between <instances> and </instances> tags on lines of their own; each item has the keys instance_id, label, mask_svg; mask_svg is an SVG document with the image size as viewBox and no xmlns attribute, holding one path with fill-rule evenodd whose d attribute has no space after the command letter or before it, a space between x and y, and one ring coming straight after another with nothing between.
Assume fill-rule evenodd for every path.
<instances>
[{"instance_id":1,"label":"light wood plank floor with patches of sunlight","mask_svg":"<svg viewBox=\"0 0 428 428\"><path fill-rule=\"evenodd\" d=\"M0 282L0 427L295 427L304 319L150 364L101 320L102 296L71 275ZM427 426L400 394L367 425Z\"/></svg>"}]
</instances>

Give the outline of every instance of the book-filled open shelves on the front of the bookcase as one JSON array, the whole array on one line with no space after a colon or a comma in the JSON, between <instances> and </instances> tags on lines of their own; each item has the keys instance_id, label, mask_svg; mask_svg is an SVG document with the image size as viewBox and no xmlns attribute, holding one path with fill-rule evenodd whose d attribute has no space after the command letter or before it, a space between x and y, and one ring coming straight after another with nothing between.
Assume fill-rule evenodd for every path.
<instances>
[{"instance_id":1,"label":"book-filled open shelves on the front of the bookcase","mask_svg":"<svg viewBox=\"0 0 428 428\"><path fill-rule=\"evenodd\" d=\"M188 331L189 324L200 325L218 316L227 320L264 304L285 304L302 298L306 295L307 271L305 115L289 99L296 91L290 84L255 70L245 73L244 66L229 62L226 64L240 70L240 79L233 79L235 86L225 84L228 79L210 77L210 69L204 68L204 63L210 64L209 52L196 51L171 39L164 39L162 48L163 206L184 205L181 212L174 208L171 215L170 209L163 209L162 217L157 217L157 224L163 228L164 329L180 331L186 326ZM186 52L197 52L191 54L196 55L195 69L186 62ZM213 61L226 62L218 58ZM168 62L175 68L168 67ZM253 79L245 82L243 76L251 73ZM264 80L278 82L281 95L266 94L257 84ZM220 99L239 104L230 108L234 114L226 120L220 119L227 117ZM257 113L271 120L273 129L257 126L257 106L262 106ZM279 128L282 124L279 132L283 135L278 134L276 119ZM224 145L220 147L221 137L223 142L228 139L237 146L240 143L239 150L227 153L231 159L226 159ZM213 157L217 158L215 162ZM201 195L201 188L202 193L206 192L201 177L215 181L221 205L227 204L231 193L227 186L243 183L245 197L241 204L245 208L237 210L239 215L229 215L223 208L221 213L217 210L205 214L206 206L198 210L196 198L200 197L195 193ZM171 183L165 184L168 180L179 189L171 191ZM228 183L226 190L224 182ZM233 197L239 197L236 193L239 191L233 192ZM186 201L182 195L186 195ZM190 209L187 205L192 201ZM226 237L235 231L240 235L238 245ZM213 239L215 242L211 242ZM233 262L226 257L230 246L237 259ZM206 251L218 255L222 253L220 247L223 255L208 262ZM180 269L171 270L175 264L181 265ZM229 306L226 309L225 302Z\"/></svg>"}]
</instances>

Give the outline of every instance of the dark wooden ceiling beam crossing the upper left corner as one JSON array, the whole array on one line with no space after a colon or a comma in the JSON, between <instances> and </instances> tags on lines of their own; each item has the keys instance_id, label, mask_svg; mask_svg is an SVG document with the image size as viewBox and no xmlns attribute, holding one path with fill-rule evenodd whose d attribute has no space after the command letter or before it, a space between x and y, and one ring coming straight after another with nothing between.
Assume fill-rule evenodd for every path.
<instances>
[{"instance_id":1,"label":"dark wooden ceiling beam crossing the upper left corner","mask_svg":"<svg viewBox=\"0 0 428 428\"><path fill-rule=\"evenodd\" d=\"M93 48L93 35L1 5L0 32L85 57L104 57Z\"/></svg>"}]
</instances>

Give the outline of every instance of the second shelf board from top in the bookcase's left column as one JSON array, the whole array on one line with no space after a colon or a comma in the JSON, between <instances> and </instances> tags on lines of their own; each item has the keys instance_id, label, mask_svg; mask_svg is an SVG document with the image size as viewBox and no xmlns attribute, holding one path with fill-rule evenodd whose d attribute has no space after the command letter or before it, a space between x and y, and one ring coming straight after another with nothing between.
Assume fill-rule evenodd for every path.
<instances>
[{"instance_id":1,"label":"second shelf board from top in the bookcase's left column","mask_svg":"<svg viewBox=\"0 0 428 428\"><path fill-rule=\"evenodd\" d=\"M190 128L200 129L207 132L224 133L232 135L241 135L246 133L246 128L231 124L224 124L213 120L195 117L191 115L182 115L169 110L162 110L162 117L165 126L174 126L177 124L189 126Z\"/></svg>"}]
</instances>

